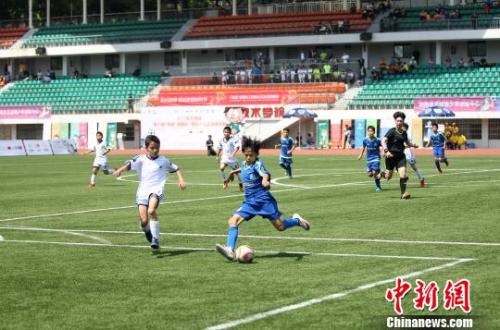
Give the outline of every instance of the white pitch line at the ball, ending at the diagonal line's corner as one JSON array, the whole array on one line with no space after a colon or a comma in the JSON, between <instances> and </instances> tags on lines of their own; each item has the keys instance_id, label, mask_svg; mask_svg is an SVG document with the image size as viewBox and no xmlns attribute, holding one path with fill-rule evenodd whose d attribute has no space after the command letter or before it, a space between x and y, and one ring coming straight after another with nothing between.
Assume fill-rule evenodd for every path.
<instances>
[{"instance_id":1,"label":"white pitch line at the ball, ending at the diagonal line's corner","mask_svg":"<svg viewBox=\"0 0 500 330\"><path fill-rule=\"evenodd\" d=\"M59 241L39 241L39 240L4 240L3 243L26 243L26 244L54 244L54 245L67 245L67 246L90 246L90 247L122 247L122 248L148 248L146 245L130 245L130 244L112 244L112 243L82 243L82 242L59 242ZM178 246L165 246L162 247L167 250L186 250L186 251L206 251L215 252L215 248L191 248L191 247L178 247ZM301 255L301 256L322 256L322 257L351 257L351 258L368 258L368 259L409 259L409 260L467 260L472 261L475 259L466 258L453 258L453 257L425 257L425 256L398 256L398 255L379 255L379 254L357 254L357 253L328 253L328 252L307 252L307 251L271 251L271 250L255 250L256 253L265 255Z\"/></svg>"}]
</instances>

